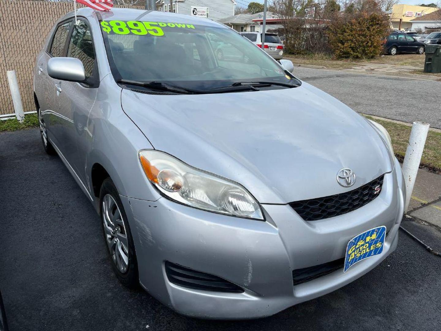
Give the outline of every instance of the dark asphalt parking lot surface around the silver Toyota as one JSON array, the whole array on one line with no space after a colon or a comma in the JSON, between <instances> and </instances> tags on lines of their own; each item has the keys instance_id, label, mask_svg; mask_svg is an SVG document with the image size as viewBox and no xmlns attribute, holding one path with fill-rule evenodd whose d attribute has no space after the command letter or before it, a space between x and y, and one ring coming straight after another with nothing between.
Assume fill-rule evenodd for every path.
<instances>
[{"instance_id":1,"label":"dark asphalt parking lot surface around the silver Toyota","mask_svg":"<svg viewBox=\"0 0 441 331\"><path fill-rule=\"evenodd\" d=\"M100 219L38 129L0 133L0 289L17 330L430 330L441 325L441 259L400 232L397 250L324 297L249 321L180 316L113 275ZM441 250L441 235L405 219Z\"/></svg>"}]
</instances>

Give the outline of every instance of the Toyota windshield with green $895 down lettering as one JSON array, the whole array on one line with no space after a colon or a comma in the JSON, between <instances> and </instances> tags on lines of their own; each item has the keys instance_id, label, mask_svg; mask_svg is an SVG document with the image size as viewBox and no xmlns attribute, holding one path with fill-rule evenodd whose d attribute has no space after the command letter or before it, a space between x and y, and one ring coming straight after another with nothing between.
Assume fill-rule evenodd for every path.
<instances>
[{"instance_id":1,"label":"Toyota windshield with green $895 down lettering","mask_svg":"<svg viewBox=\"0 0 441 331\"><path fill-rule=\"evenodd\" d=\"M300 83L229 28L140 21L102 21L101 28L117 80L199 90L236 82Z\"/></svg>"}]
</instances>

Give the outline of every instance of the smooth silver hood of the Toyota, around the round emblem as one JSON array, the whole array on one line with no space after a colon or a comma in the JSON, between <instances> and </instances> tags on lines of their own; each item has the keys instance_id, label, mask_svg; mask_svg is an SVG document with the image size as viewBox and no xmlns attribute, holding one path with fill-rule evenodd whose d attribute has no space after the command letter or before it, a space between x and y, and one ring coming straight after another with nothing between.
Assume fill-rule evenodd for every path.
<instances>
[{"instance_id":1,"label":"smooth silver hood of the Toyota, around the round emblem","mask_svg":"<svg viewBox=\"0 0 441 331\"><path fill-rule=\"evenodd\" d=\"M377 131L304 83L256 92L152 95L123 89L124 112L157 150L245 186L260 203L355 189L392 171ZM340 169L355 172L350 188Z\"/></svg>"}]
</instances>

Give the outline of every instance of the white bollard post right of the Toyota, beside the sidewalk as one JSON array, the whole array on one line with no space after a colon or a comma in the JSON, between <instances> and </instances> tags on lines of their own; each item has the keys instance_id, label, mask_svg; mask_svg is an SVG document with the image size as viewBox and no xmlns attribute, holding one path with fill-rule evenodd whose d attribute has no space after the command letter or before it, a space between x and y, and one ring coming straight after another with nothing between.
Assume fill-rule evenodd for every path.
<instances>
[{"instance_id":1,"label":"white bollard post right of the Toyota, beside the sidewalk","mask_svg":"<svg viewBox=\"0 0 441 331\"><path fill-rule=\"evenodd\" d=\"M404 182L406 183L406 204L404 211L407 211L411 200L415 178L418 173L419 163L421 162L422 151L426 143L429 123L413 122L409 144L407 145L406 155L403 162Z\"/></svg>"}]
</instances>

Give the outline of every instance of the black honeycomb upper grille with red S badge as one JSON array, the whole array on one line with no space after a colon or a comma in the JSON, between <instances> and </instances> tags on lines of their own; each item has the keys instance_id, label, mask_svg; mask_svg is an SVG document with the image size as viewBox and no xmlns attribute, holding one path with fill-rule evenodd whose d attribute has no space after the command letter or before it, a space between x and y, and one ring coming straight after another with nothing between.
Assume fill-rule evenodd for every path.
<instances>
[{"instance_id":1,"label":"black honeycomb upper grille with red S badge","mask_svg":"<svg viewBox=\"0 0 441 331\"><path fill-rule=\"evenodd\" d=\"M370 183L349 192L323 198L295 201L289 203L289 205L305 221L315 221L346 214L374 200L379 195L376 188L379 187L381 190L383 186L383 177L384 175L381 175Z\"/></svg>"}]
</instances>

